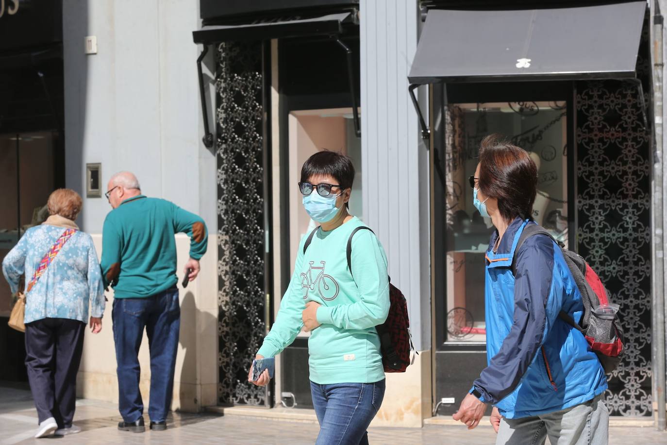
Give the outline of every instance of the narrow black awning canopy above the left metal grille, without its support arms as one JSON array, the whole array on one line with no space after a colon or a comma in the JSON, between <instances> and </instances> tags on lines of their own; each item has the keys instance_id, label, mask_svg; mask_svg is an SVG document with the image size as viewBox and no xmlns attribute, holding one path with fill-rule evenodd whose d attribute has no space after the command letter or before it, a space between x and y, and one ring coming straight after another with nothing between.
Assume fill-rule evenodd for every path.
<instances>
[{"instance_id":1,"label":"narrow black awning canopy above the left metal grille, without its support arms","mask_svg":"<svg viewBox=\"0 0 667 445\"><path fill-rule=\"evenodd\" d=\"M229 40L265 40L299 37L302 35L338 35L342 23L351 13L338 13L309 19L245 23L242 25L211 25L193 31L195 43L218 43Z\"/></svg>"}]
</instances>

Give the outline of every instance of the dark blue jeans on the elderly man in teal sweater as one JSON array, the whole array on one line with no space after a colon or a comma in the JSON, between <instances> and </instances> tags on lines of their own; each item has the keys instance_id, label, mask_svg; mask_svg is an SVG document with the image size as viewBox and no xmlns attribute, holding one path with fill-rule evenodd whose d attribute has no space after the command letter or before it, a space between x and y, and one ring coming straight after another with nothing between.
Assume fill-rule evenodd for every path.
<instances>
[{"instance_id":1,"label":"dark blue jeans on the elderly man in teal sweater","mask_svg":"<svg viewBox=\"0 0 667 445\"><path fill-rule=\"evenodd\" d=\"M178 289L147 298L113 300L113 341L118 374L118 408L125 422L143 416L139 392L139 346L146 328L151 354L151 395L148 415L153 422L167 418L173 392L181 308Z\"/></svg>"}]
</instances>

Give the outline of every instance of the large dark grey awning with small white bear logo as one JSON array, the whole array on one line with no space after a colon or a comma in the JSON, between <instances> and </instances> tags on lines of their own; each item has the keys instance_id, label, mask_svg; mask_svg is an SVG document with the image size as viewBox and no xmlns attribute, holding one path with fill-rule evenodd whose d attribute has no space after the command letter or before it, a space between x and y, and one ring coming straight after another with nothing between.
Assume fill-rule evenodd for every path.
<instances>
[{"instance_id":1,"label":"large dark grey awning with small white bear logo","mask_svg":"<svg viewBox=\"0 0 667 445\"><path fill-rule=\"evenodd\" d=\"M434 9L408 79L475 82L635 77L646 1L503 11Z\"/></svg>"}]
</instances>

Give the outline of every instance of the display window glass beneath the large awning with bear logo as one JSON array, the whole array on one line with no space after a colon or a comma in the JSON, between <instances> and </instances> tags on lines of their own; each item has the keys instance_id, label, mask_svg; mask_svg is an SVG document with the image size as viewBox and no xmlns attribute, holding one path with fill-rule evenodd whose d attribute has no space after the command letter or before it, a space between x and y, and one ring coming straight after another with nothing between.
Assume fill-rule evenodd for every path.
<instances>
[{"instance_id":1,"label":"display window glass beneath the large awning with bear logo","mask_svg":"<svg viewBox=\"0 0 667 445\"><path fill-rule=\"evenodd\" d=\"M486 342L484 253L494 228L472 204L468 177L487 135L499 133L529 151L539 177L533 217L567 245L566 103L460 103L447 114L447 158L440 173L446 188L446 341Z\"/></svg>"}]
</instances>

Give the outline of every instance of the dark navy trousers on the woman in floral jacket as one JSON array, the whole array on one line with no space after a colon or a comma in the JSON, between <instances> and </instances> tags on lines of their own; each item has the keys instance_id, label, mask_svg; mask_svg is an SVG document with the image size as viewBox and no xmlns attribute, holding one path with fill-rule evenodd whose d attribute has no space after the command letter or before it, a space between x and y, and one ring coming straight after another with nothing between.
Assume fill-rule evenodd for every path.
<instances>
[{"instance_id":1,"label":"dark navy trousers on the woman in floral jacket","mask_svg":"<svg viewBox=\"0 0 667 445\"><path fill-rule=\"evenodd\" d=\"M39 422L72 426L85 323L43 318L25 325L25 366Z\"/></svg>"}]
</instances>

